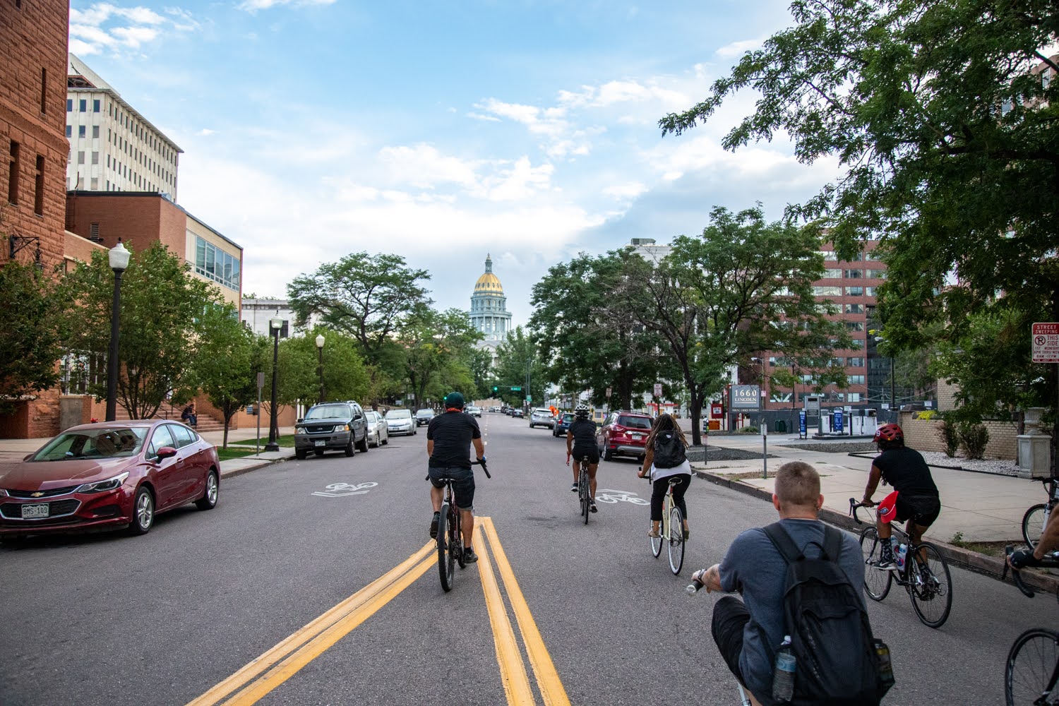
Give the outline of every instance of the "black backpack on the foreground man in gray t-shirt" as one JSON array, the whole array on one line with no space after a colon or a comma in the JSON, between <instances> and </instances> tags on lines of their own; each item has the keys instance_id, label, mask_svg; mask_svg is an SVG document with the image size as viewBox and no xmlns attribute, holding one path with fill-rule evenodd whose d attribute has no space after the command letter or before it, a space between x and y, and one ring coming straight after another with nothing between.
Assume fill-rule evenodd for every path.
<instances>
[{"instance_id":1,"label":"black backpack on the foreground man in gray t-shirt","mask_svg":"<svg viewBox=\"0 0 1059 706\"><path fill-rule=\"evenodd\" d=\"M877 648L887 660L889 648L872 636L861 587L850 584L838 563L842 532L825 525L821 555L809 559L779 523L764 530L787 562L784 624L796 659L790 703L878 705L893 683L883 682Z\"/></svg>"}]
</instances>

